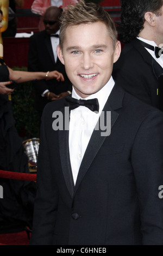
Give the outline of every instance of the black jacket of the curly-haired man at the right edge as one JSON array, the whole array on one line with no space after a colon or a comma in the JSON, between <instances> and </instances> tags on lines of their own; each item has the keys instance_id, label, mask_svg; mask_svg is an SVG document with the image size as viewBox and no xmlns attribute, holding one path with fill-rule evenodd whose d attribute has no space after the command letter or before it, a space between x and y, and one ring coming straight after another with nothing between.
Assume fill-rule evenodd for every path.
<instances>
[{"instance_id":1,"label":"black jacket of the curly-haired man at the right edge","mask_svg":"<svg viewBox=\"0 0 163 256\"><path fill-rule=\"evenodd\" d=\"M162 73L161 66L139 40L134 39L124 46L112 76L127 92L159 108L158 78Z\"/></svg>"}]
</instances>

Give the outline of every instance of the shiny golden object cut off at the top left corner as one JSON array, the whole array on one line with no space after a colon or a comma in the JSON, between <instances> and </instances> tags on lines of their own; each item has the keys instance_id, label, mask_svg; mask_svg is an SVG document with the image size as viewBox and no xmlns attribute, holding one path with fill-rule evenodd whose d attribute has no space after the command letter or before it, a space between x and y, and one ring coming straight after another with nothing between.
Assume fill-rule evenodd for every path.
<instances>
[{"instance_id":1,"label":"shiny golden object cut off at the top left corner","mask_svg":"<svg viewBox=\"0 0 163 256\"><path fill-rule=\"evenodd\" d=\"M8 28L9 0L0 0L0 9L3 11L1 33Z\"/></svg>"}]
</instances>

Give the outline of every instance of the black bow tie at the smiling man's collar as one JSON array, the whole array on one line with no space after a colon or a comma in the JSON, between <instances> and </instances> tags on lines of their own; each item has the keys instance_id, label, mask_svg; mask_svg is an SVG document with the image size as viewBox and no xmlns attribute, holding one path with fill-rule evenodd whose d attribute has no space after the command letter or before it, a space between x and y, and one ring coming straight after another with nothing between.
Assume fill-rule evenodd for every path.
<instances>
[{"instance_id":1,"label":"black bow tie at the smiling man's collar","mask_svg":"<svg viewBox=\"0 0 163 256\"><path fill-rule=\"evenodd\" d=\"M99 104L98 99L91 99L91 100L77 100L70 96L65 97L66 100L66 106L69 107L69 110L71 111L74 108L77 108L79 106L85 106L89 108L91 111L99 111Z\"/></svg>"}]
</instances>

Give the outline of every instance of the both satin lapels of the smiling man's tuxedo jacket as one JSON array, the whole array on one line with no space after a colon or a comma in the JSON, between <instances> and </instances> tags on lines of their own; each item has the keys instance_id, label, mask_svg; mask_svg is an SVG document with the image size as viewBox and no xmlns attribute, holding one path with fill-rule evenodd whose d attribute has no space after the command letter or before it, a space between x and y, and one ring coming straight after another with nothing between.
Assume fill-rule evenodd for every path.
<instances>
[{"instance_id":1,"label":"both satin lapels of the smiling man's tuxedo jacket","mask_svg":"<svg viewBox=\"0 0 163 256\"><path fill-rule=\"evenodd\" d=\"M124 90L121 87L118 87L115 85L108 98L108 101L104 106L103 113L104 113L105 124L106 124L106 112L107 111L111 112L111 129L118 118L119 114L116 112L116 109L119 109L122 107L123 96L124 96ZM68 112L65 113L65 108L62 108L60 111L63 115L63 120L64 120L64 123L63 123L64 129L59 130L59 151L60 151L61 166L62 166L62 172L64 174L67 189L70 192L71 197L73 198L87 170L91 166L92 161L95 159L99 149L102 147L102 144L104 143L107 136L101 136L103 130L101 129L101 125L99 121L99 125L98 125L99 129L97 130L95 129L92 133L90 142L87 145L87 149L85 151L83 161L79 169L76 186L74 186L71 162L70 162L69 144L68 144L69 115L68 115ZM110 134L110 130L108 131L108 135L109 134Z\"/></svg>"}]
</instances>

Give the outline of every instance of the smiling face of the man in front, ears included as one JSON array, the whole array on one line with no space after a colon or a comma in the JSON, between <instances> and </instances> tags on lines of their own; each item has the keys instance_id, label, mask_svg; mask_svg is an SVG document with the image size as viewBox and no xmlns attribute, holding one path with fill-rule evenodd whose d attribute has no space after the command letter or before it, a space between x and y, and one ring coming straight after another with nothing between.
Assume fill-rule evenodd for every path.
<instances>
[{"instance_id":1,"label":"smiling face of the man in front, ears included","mask_svg":"<svg viewBox=\"0 0 163 256\"><path fill-rule=\"evenodd\" d=\"M121 46L117 42L114 51L106 25L95 22L67 27L62 50L57 50L74 90L85 98L109 81Z\"/></svg>"}]
</instances>

